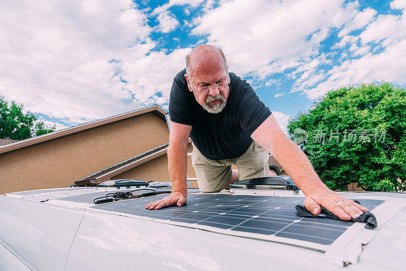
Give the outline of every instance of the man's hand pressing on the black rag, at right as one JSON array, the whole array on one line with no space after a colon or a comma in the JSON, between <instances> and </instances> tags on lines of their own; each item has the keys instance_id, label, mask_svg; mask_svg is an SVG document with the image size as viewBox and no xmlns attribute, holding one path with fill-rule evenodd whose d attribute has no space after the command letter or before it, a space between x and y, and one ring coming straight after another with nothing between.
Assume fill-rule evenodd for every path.
<instances>
[{"instance_id":1,"label":"man's hand pressing on the black rag, at right","mask_svg":"<svg viewBox=\"0 0 406 271\"><path fill-rule=\"evenodd\" d=\"M320 206L323 206L342 220L350 220L351 217L357 218L362 212L368 211L365 207L356 204L351 199L342 197L328 188L311 192L304 199L304 207L314 215L320 214Z\"/></svg>"}]
</instances>

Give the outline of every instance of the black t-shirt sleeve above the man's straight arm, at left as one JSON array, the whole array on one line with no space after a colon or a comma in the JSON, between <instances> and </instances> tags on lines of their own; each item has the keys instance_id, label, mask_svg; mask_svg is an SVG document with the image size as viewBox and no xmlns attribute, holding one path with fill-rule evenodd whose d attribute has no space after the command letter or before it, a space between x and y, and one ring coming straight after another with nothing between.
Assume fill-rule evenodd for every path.
<instances>
[{"instance_id":1,"label":"black t-shirt sleeve above the man's straight arm, at left","mask_svg":"<svg viewBox=\"0 0 406 271\"><path fill-rule=\"evenodd\" d=\"M187 87L186 79L182 82L182 76L184 72L180 72L172 83L172 89L169 99L169 115L171 121L192 125L192 105L190 101L190 91Z\"/></svg>"}]
</instances>

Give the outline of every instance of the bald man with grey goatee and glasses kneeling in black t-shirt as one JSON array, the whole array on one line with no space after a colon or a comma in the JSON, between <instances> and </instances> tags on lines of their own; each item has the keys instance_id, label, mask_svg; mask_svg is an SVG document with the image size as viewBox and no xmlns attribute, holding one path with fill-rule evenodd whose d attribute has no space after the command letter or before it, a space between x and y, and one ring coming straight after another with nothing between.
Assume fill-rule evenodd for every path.
<instances>
[{"instance_id":1,"label":"bald man with grey goatee and glasses kneeling in black t-shirt","mask_svg":"<svg viewBox=\"0 0 406 271\"><path fill-rule=\"evenodd\" d=\"M282 131L251 86L228 73L220 49L199 45L189 53L186 71L174 79L169 111L167 155L172 193L150 202L146 209L186 203L190 136L192 163L203 192L220 191L239 179L231 172L231 163L239 167L240 179L269 176L267 158L271 153L306 195L304 206L313 214L318 215L324 206L341 219L350 220L367 211L323 184L306 155Z\"/></svg>"}]
</instances>

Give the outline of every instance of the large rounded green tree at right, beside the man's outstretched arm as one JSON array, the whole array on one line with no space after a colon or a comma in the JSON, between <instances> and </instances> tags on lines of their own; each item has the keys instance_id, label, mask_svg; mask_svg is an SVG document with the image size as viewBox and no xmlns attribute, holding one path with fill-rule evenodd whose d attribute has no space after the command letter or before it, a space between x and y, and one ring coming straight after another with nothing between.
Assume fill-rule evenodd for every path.
<instances>
[{"instance_id":1,"label":"large rounded green tree at right, beside the man's outstretched arm","mask_svg":"<svg viewBox=\"0 0 406 271\"><path fill-rule=\"evenodd\" d=\"M308 132L300 143L301 128ZM295 133L296 129L296 133ZM406 91L389 83L329 91L289 120L316 172L334 190L358 182L368 191L406 190Z\"/></svg>"}]
</instances>

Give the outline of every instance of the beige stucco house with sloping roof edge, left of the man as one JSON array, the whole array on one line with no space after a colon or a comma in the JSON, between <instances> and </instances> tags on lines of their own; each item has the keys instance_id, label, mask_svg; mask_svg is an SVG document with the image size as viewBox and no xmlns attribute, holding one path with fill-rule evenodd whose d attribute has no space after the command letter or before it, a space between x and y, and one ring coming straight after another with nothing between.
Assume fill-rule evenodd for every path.
<instances>
[{"instance_id":1,"label":"beige stucco house with sloping roof edge, left of the man","mask_svg":"<svg viewBox=\"0 0 406 271\"><path fill-rule=\"evenodd\" d=\"M0 146L0 194L89 180L170 181L165 114L151 106ZM195 176L190 157L188 174Z\"/></svg>"}]
</instances>

